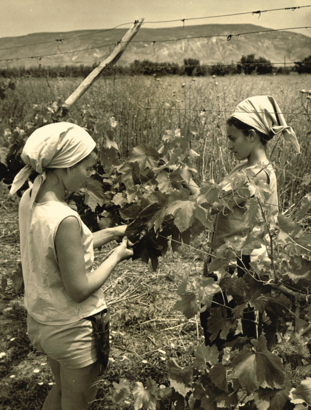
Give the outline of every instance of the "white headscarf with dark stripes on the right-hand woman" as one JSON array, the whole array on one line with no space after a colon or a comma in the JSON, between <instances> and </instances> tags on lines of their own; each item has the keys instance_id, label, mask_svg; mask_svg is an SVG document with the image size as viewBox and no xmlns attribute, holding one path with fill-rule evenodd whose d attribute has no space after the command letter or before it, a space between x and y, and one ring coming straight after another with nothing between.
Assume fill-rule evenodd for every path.
<instances>
[{"instance_id":1,"label":"white headscarf with dark stripes on the right-hand woman","mask_svg":"<svg viewBox=\"0 0 311 410\"><path fill-rule=\"evenodd\" d=\"M300 152L300 146L293 128L286 124L276 100L270 95L257 95L244 99L237 106L232 116L270 138L281 132L284 139L296 151Z\"/></svg>"}]
</instances>

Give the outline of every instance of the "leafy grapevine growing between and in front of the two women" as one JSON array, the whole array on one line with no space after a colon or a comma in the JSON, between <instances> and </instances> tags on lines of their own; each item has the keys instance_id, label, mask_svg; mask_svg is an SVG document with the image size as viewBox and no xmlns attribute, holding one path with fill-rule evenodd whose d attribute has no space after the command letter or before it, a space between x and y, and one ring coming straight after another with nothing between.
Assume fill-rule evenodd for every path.
<instances>
[{"instance_id":1,"label":"leafy grapevine growing between and in front of the two women","mask_svg":"<svg viewBox=\"0 0 311 410\"><path fill-rule=\"evenodd\" d=\"M22 167L19 154L27 136L60 118L59 103L41 106L26 130L7 131L0 151L6 183ZM169 247L175 252L200 234L208 236L213 229L212 208L225 212L232 206L232 198L213 181L203 183L197 196L187 188L198 157L191 126L166 131L158 150L134 147L126 159L120 158L112 115L103 124L89 119L86 126L99 149L95 172L67 200L93 230L127 224L133 260L150 261L156 271L159 257ZM114 382L116 408L127 408L131 397L135 409L299 410L311 405L311 234L301 227L311 194L303 197L293 217L279 215L278 226L272 229L265 219L268 190L263 182L254 182L255 176L247 170L233 187L233 191L243 187L250 197L245 211L250 232L212 255L214 276L185 277L178 286L176 310L188 319L203 309L209 311L211 345L199 344L184 367L170 359L167 386L158 386L152 378L145 385L139 381L131 386L124 379ZM303 183L308 185L309 176ZM258 249L267 234L269 258L258 256L243 277L230 275L232 260ZM247 306L257 313L256 338L241 332ZM218 348L213 343L217 338ZM304 377L294 381L297 367Z\"/></svg>"}]
</instances>

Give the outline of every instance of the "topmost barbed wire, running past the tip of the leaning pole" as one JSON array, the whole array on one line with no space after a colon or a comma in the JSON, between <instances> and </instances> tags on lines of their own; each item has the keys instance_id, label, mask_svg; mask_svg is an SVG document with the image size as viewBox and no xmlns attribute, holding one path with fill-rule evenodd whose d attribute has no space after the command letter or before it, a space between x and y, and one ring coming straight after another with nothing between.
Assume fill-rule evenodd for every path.
<instances>
[{"instance_id":1,"label":"topmost barbed wire, running past the tip of the leaning pole","mask_svg":"<svg viewBox=\"0 0 311 410\"><path fill-rule=\"evenodd\" d=\"M302 9L305 7L311 7L311 5L308 6L296 6L296 7L284 7L284 8L278 8L278 9L269 9L269 10L256 10L256 11L245 11L245 12L241 12L241 13L231 13L231 14L222 14L222 15L213 15L213 16L204 16L204 17L190 17L190 18L179 18L179 19L175 19L175 20L162 20L159 22L142 22L142 24L158 24L158 23L173 23L173 22L182 22L184 23L185 21L190 21L190 20L198 20L198 19L207 19L207 18L217 18L217 17L230 17L230 16L238 16L238 15L244 15L244 14L259 14L261 15L261 13L266 13L266 12L271 12L271 11L280 11L280 10L297 10L297 9ZM133 24L133 22L128 22L128 23L122 23L119 24L115 27L112 27L110 29L104 29L104 30L98 30L92 33L87 33L87 34L78 34L75 36L69 36L69 37L60 37L60 38L55 38L54 40L49 40L47 42L38 42L38 43L30 43L30 44L26 44L26 45L22 45L22 46L12 46L12 47L5 47L5 48L0 48L0 50L11 50L13 48L24 48L24 47L29 47L29 46L36 46L39 44L49 44L49 43L54 43L54 42L63 42L66 41L68 39L72 39L72 38L78 38L78 37L84 37L84 36L88 36L88 35L95 35L98 33L104 33L106 31L111 31L111 30L115 30L121 26L127 26L129 24Z\"/></svg>"}]
</instances>

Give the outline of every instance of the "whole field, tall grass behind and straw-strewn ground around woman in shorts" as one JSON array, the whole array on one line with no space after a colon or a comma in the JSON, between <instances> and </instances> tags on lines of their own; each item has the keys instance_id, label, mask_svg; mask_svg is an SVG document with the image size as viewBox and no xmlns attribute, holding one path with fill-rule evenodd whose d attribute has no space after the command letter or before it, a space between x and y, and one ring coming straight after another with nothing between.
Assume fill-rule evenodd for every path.
<instances>
[{"instance_id":1,"label":"whole field, tall grass behind and straw-strewn ground around woman in shorts","mask_svg":"<svg viewBox=\"0 0 311 410\"><path fill-rule=\"evenodd\" d=\"M15 127L27 129L34 105L65 100L79 85L79 79L25 79L7 90L0 101L0 136ZM114 116L116 142L126 157L136 145L158 149L165 130L192 127L193 149L197 160L197 182L220 181L234 160L226 150L225 119L242 99L251 95L273 95L287 124L296 131L301 153L294 154L282 140L270 142L268 151L276 163L281 211L291 214L308 191L301 185L311 171L310 115L307 93L309 75L227 76L227 77L115 77L101 78L70 110L70 119L89 128L105 129ZM3 137L5 139L5 137ZM9 198L1 185L0 266L2 299L0 300L0 362L3 364L0 408L35 410L42 405L52 377L45 356L33 350L26 335L25 310L18 290L19 237L18 198ZM309 217L304 219L309 228ZM114 382L146 383L152 377L158 385L167 384L167 359L175 358L180 366L191 363L202 331L197 317L190 320L173 309L176 290L184 276L200 276L203 266L198 237L191 248L183 247L160 258L153 272L140 260L123 262L105 283L111 306L111 356L107 373L101 381L103 393L93 409L118 409L113 399ZM96 253L96 263L109 247ZM15 272L15 274L14 274ZM4 280L8 280L6 284ZM132 409L132 399L122 408Z\"/></svg>"}]
</instances>

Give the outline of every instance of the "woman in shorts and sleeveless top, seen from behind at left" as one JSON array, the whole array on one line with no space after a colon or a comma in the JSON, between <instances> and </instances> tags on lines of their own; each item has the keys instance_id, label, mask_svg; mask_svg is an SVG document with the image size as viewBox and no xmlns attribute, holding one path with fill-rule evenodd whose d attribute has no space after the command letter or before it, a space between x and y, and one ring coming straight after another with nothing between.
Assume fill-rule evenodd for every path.
<instances>
[{"instance_id":1,"label":"woman in shorts and sleeveless top, seen from behind at left","mask_svg":"<svg viewBox=\"0 0 311 410\"><path fill-rule=\"evenodd\" d=\"M26 166L10 190L14 194L33 170L38 173L19 203L19 231L28 336L47 354L55 379L44 410L85 410L95 398L92 384L102 360L92 321L100 325L107 312L100 288L133 254L124 237L126 226L92 233L65 202L65 194L91 176L95 146L83 128L69 122L37 129L26 141L21 155ZM93 248L122 237L93 270ZM101 353L107 362L108 352Z\"/></svg>"}]
</instances>

